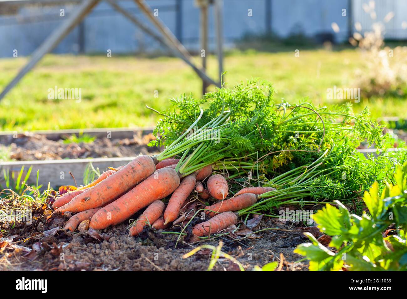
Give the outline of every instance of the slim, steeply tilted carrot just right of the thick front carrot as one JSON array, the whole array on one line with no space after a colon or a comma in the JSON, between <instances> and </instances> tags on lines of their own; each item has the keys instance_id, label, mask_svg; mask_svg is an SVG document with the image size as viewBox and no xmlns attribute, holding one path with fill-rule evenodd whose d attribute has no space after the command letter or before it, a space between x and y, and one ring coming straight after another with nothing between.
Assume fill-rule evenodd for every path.
<instances>
[{"instance_id":1,"label":"slim, steeply tilted carrot just right of the thick front carrot","mask_svg":"<svg viewBox=\"0 0 407 299\"><path fill-rule=\"evenodd\" d=\"M192 190L194 190L195 183L197 182L195 176L196 173L186 176L179 184L177 190L175 190L173 195L171 195L164 212L164 225L177 219L184 201L186 201L189 194L191 194Z\"/></svg>"}]
</instances>

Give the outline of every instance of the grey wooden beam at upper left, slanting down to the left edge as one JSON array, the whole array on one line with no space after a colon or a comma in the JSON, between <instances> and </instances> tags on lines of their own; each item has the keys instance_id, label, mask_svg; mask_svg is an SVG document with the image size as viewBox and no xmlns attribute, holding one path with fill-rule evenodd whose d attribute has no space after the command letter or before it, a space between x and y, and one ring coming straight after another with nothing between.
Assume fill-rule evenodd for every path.
<instances>
[{"instance_id":1,"label":"grey wooden beam at upper left, slanting down to the left edge","mask_svg":"<svg viewBox=\"0 0 407 299\"><path fill-rule=\"evenodd\" d=\"M51 52L59 42L72 31L81 20L93 9L93 7L99 2L99 0L84 0L82 4L79 4L78 8L70 15L61 26L56 28L50 36L33 52L31 60L28 61L24 68L20 70L17 76L4 88L0 94L0 100L21 80L21 78L29 72L37 62L48 52Z\"/></svg>"}]
</instances>

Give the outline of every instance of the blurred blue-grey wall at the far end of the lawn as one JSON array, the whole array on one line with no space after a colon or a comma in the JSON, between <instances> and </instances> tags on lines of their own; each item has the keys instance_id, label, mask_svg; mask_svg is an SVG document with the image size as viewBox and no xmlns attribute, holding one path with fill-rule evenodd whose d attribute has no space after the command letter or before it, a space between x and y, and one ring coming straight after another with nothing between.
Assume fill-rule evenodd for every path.
<instances>
[{"instance_id":1,"label":"blurred blue-grey wall at the far end of the lawn","mask_svg":"<svg viewBox=\"0 0 407 299\"><path fill-rule=\"evenodd\" d=\"M176 4L180 3L181 13L177 13ZM376 3L378 19L395 9L396 17L387 24L387 34L391 37L407 37L407 31L401 29L402 19L406 17L404 0L383 0ZM354 21L360 20L364 29L371 24L368 15L361 9L368 0L354 0L352 10ZM378 2L378 1L376 1ZM159 9L161 20L173 31L190 50L199 50L199 9L194 0L149 0L152 8ZM224 35L226 46L232 47L236 39L244 34L263 34L268 28L281 36L292 31L304 31L313 36L317 33L333 33L337 41L348 38L348 17L341 16L341 10L348 8L348 0L224 0ZM121 1L120 5L145 20L133 1ZM267 16L267 5L271 5L271 14ZM18 55L29 55L63 20L59 9L65 9L68 16L74 6L40 7L27 6L20 9L18 15L0 16L0 57L11 57L13 50ZM253 10L253 16L247 16L247 10ZM349 14L349 11L347 11ZM177 19L181 16L181 20ZM22 17L30 17L23 20ZM181 26L177 26L178 23ZM269 24L267 24L269 22ZM340 32L334 33L331 23L339 25ZM147 22L148 23L148 22ZM148 23L149 24L149 23ZM210 46L214 41L213 11L210 9ZM81 46L81 32L84 44ZM81 27L75 28L54 50L55 53L106 52L129 53L153 51L160 46L151 37L141 33L123 15L117 13L109 4L101 2L88 15Z\"/></svg>"}]
</instances>

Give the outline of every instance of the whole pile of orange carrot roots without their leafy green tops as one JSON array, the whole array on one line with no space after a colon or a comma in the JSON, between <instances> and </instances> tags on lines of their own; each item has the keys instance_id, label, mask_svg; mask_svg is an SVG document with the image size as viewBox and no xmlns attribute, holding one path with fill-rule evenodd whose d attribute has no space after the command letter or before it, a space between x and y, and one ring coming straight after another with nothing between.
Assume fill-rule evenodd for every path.
<instances>
[{"instance_id":1,"label":"whole pile of orange carrot roots without their leafy green tops","mask_svg":"<svg viewBox=\"0 0 407 299\"><path fill-rule=\"evenodd\" d=\"M212 166L182 177L175 171L178 161L168 158L158 162L154 157L138 156L125 166L103 172L87 186L61 195L53 203L54 212L77 213L64 226L74 231L81 223L92 229L118 225L146 208L129 227L131 236L138 236L147 226L166 229L171 223L182 222L179 216L188 206L211 199L213 205L202 205L209 219L192 229L191 241L197 241L236 224L235 211L256 203L258 194L274 190L243 188L228 197L228 182L222 175L212 175ZM162 199L167 196L165 204Z\"/></svg>"}]
</instances>

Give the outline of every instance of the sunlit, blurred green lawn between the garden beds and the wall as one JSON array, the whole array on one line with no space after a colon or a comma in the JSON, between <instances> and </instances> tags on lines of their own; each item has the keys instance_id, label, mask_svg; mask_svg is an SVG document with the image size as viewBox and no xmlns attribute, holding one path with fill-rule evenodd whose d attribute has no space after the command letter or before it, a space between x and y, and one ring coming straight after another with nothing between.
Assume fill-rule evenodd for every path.
<instances>
[{"instance_id":1,"label":"sunlit, blurred green lawn between the garden beds and the wall","mask_svg":"<svg viewBox=\"0 0 407 299\"><path fill-rule=\"evenodd\" d=\"M196 58L199 61L198 58ZM0 88L4 88L26 58L0 59ZM251 78L271 81L281 98L295 103L309 98L317 104L338 104L326 100L326 89L355 87L354 70L360 54L340 51L301 50L289 52L231 52L225 57L225 81L229 86ZM208 72L217 73L216 57L210 57ZM48 100L48 89L81 88L82 101ZM156 98L155 90L158 91ZM36 68L0 102L3 130L72 129L154 125L156 115L145 108L162 110L168 98L182 93L199 96L201 81L183 61L172 57L47 55ZM368 106L374 117L406 117L403 98L363 99L355 110Z\"/></svg>"}]
</instances>

